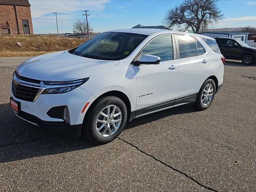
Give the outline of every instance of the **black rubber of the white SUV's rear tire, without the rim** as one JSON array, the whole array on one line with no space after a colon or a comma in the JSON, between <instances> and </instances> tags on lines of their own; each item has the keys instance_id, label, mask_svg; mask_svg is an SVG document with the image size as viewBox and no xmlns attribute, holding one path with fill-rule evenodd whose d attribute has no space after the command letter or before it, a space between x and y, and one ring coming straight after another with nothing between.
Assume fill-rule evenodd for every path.
<instances>
[{"instance_id":1,"label":"black rubber of the white SUV's rear tire, without the rim","mask_svg":"<svg viewBox=\"0 0 256 192\"><path fill-rule=\"evenodd\" d=\"M212 87L213 87L212 99L210 100L210 102L209 102L207 105L204 105L204 104L202 103L202 94L203 94L204 89L206 88L206 86L208 86L209 84L211 84ZM198 92L198 94L197 94L196 101L194 102L193 106L194 106L196 109L200 110L200 111L206 110L206 109L207 109L208 107L210 107L210 105L212 104L212 101L214 100L215 92L216 92L216 86L215 86L214 80L212 80L212 79L207 79L207 80L203 83L202 87L200 88L200 90L199 90L199 92Z\"/></svg>"}]
</instances>

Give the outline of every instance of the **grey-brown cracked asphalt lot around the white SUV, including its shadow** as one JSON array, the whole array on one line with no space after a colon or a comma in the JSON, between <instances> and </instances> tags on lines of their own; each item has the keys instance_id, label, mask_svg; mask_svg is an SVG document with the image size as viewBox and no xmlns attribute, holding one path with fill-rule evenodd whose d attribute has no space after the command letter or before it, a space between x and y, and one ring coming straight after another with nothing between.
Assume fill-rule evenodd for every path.
<instances>
[{"instance_id":1,"label":"grey-brown cracked asphalt lot around the white SUV, including its shadow","mask_svg":"<svg viewBox=\"0 0 256 192\"><path fill-rule=\"evenodd\" d=\"M137 118L103 146L16 118L15 68L0 58L1 192L256 191L256 65L226 62L208 110L187 104Z\"/></svg>"}]
</instances>

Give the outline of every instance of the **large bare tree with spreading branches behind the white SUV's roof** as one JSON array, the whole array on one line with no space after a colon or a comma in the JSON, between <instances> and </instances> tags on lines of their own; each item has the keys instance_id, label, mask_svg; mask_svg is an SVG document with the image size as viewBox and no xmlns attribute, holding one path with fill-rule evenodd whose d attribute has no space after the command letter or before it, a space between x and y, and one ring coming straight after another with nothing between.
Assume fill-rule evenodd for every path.
<instances>
[{"instance_id":1,"label":"large bare tree with spreading branches behind the white SUV's roof","mask_svg":"<svg viewBox=\"0 0 256 192\"><path fill-rule=\"evenodd\" d=\"M194 33L198 33L200 28L207 28L209 24L224 18L217 2L218 0L184 0L167 11L163 23L169 28L176 26L181 30L191 27Z\"/></svg>"}]
</instances>

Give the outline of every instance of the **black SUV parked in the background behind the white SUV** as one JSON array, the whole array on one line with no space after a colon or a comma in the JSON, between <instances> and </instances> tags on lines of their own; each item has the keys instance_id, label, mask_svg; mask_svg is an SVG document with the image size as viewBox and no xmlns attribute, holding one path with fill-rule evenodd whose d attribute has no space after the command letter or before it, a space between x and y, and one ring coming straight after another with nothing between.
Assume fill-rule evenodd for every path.
<instances>
[{"instance_id":1,"label":"black SUV parked in the background behind the white SUV","mask_svg":"<svg viewBox=\"0 0 256 192\"><path fill-rule=\"evenodd\" d=\"M242 60L242 64L256 63L256 48L250 47L242 40L232 38L215 38L221 54L226 59Z\"/></svg>"}]
</instances>

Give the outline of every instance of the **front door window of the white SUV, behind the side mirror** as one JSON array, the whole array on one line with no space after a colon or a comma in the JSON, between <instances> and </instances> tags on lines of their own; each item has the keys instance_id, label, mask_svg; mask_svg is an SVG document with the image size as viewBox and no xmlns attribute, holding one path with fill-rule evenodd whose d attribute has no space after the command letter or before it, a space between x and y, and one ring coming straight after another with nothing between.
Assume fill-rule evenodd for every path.
<instances>
[{"instance_id":1,"label":"front door window of the white SUV, behind the side mirror","mask_svg":"<svg viewBox=\"0 0 256 192\"><path fill-rule=\"evenodd\" d=\"M142 55L154 55L161 61L173 60L172 36L164 35L154 38L142 50Z\"/></svg>"}]
</instances>

